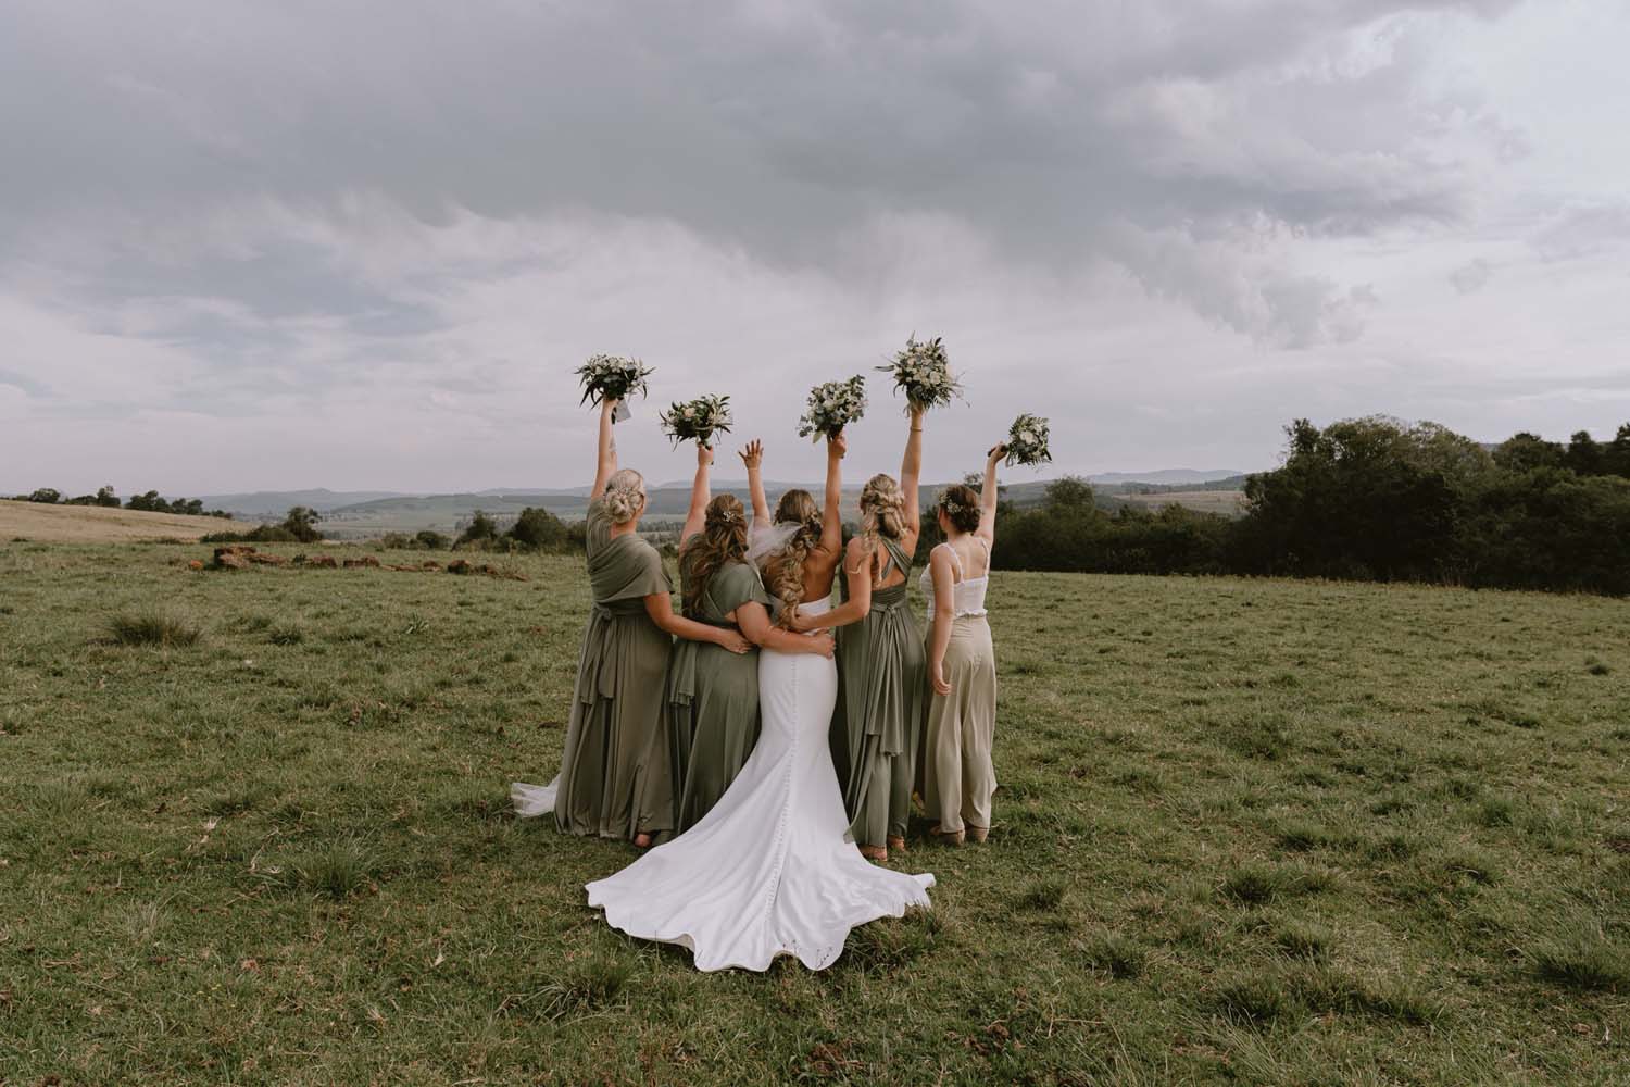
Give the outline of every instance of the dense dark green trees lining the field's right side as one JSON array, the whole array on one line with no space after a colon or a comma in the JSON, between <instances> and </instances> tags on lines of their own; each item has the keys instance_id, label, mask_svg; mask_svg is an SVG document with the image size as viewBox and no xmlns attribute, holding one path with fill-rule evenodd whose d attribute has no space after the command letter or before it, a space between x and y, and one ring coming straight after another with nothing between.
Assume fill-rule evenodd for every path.
<instances>
[{"instance_id":1,"label":"dense dark green trees lining the field's right side","mask_svg":"<svg viewBox=\"0 0 1630 1087\"><path fill-rule=\"evenodd\" d=\"M1286 427L1284 463L1229 518L1105 512L1074 477L1001 507L998 569L1245 574L1630 593L1630 424L1612 442L1518 433L1483 447L1371 416ZM937 543L926 531L924 552Z\"/></svg>"}]
</instances>

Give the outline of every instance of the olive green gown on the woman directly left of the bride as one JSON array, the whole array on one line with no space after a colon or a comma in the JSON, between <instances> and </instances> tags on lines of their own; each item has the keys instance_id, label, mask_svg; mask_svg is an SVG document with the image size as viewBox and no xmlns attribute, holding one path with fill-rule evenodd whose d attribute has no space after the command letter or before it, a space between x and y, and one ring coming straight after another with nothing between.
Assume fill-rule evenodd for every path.
<instances>
[{"instance_id":1,"label":"olive green gown on the woman directly left of the bride","mask_svg":"<svg viewBox=\"0 0 1630 1087\"><path fill-rule=\"evenodd\" d=\"M680 583L688 587L691 562L680 556ZM717 569L688 618L735 629L725 616L755 601L769 608L769 593L747 562ZM680 833L719 802L758 743L758 650L732 654L711 642L678 639L668 662L668 732Z\"/></svg>"}]
</instances>

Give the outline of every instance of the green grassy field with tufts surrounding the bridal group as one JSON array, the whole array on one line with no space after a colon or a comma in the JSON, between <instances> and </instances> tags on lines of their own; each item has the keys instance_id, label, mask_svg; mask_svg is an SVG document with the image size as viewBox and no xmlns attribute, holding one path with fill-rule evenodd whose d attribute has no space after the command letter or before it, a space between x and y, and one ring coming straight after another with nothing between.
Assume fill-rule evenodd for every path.
<instances>
[{"instance_id":1,"label":"green grassy field with tufts surrounding the bridal group","mask_svg":"<svg viewBox=\"0 0 1630 1087\"><path fill-rule=\"evenodd\" d=\"M1630 1082L1623 601L998 574L989 844L698 975L505 812L580 561L204 554L0 544L7 1087Z\"/></svg>"}]
</instances>

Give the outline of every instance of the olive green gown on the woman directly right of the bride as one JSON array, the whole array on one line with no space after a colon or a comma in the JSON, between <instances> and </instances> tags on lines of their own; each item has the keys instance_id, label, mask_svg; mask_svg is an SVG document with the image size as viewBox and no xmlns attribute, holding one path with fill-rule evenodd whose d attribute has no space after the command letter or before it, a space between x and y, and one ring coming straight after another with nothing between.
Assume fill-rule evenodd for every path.
<instances>
[{"instance_id":1,"label":"olive green gown on the woman directly right of the bride","mask_svg":"<svg viewBox=\"0 0 1630 1087\"><path fill-rule=\"evenodd\" d=\"M910 579L911 557L896 539L883 577L898 567ZM838 579L843 596L849 587ZM846 753L843 802L854 841L883 846L890 834L905 838L911 786L923 730L927 654L923 631L906 601L906 583L872 590L872 610L859 623L838 627L838 696L835 732Z\"/></svg>"}]
</instances>

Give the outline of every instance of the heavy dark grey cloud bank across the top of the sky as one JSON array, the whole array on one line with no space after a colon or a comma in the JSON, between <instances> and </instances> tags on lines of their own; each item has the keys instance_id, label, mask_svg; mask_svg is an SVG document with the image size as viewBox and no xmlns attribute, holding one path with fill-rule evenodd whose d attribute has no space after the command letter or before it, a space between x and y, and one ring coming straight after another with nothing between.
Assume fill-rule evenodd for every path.
<instances>
[{"instance_id":1,"label":"heavy dark grey cloud bank across the top of the sky","mask_svg":"<svg viewBox=\"0 0 1630 1087\"><path fill-rule=\"evenodd\" d=\"M670 218L833 274L852 274L841 238L905 212L1053 266L1134 261L1113 243L1125 227L1371 233L1457 218L1470 179L1434 150L1444 122L1420 101L1408 26L1379 64L1345 55L1343 34L1509 7L33 3L0 15L0 137L29 148L0 179L0 238L98 202L165 222L261 194L342 218L355 192L430 223L456 209ZM1167 266L1131 271L1188 297ZM101 288L204 280L271 311L318 292L367 301L323 266L284 267L300 266L137 261ZM1353 328L1309 319L1346 306L1315 279L1280 269L1249 290L1249 305L1192 301L1265 342Z\"/></svg>"}]
</instances>

